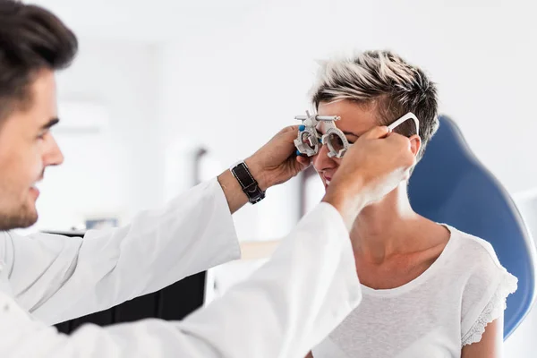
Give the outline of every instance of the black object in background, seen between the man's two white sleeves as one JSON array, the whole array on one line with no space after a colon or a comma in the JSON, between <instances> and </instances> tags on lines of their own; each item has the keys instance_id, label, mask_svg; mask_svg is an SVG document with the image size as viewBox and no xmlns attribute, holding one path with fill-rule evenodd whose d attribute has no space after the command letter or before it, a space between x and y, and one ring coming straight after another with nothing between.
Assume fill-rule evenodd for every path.
<instances>
[{"instance_id":1,"label":"black object in background, seen between the man's two white sleeves","mask_svg":"<svg viewBox=\"0 0 537 358\"><path fill-rule=\"evenodd\" d=\"M83 232L55 233L66 236L83 236ZM63 333L71 333L84 323L107 326L114 323L131 322L147 318L162 320L183 320L189 313L203 305L205 299L206 272L183 278L171 286L153 294L146 294L131 301L121 303L106 311L92 313L74 320L58 323L56 328Z\"/></svg>"}]
</instances>

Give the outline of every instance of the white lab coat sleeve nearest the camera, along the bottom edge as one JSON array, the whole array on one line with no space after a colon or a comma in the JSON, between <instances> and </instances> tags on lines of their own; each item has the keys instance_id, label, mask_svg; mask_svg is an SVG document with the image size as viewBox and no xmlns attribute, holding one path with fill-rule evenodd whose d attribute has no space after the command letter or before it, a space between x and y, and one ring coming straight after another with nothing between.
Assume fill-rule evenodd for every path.
<instances>
[{"instance_id":1,"label":"white lab coat sleeve nearest the camera, along the bottom edge","mask_svg":"<svg viewBox=\"0 0 537 358\"><path fill-rule=\"evenodd\" d=\"M22 327L10 320L16 307L4 306L0 355L303 358L361 297L343 220L336 209L320 204L268 263L181 322L85 325L67 337L36 321Z\"/></svg>"}]
</instances>

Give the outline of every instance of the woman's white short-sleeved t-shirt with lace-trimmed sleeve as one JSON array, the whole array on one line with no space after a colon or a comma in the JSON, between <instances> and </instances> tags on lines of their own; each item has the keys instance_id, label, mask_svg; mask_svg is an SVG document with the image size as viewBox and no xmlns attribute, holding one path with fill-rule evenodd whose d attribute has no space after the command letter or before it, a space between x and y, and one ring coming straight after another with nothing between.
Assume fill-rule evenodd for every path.
<instances>
[{"instance_id":1,"label":"woman's white short-sleeved t-shirt with lace-trimmed sleeve","mask_svg":"<svg viewBox=\"0 0 537 358\"><path fill-rule=\"evenodd\" d=\"M446 226L439 258L393 289L362 285L362 303L312 350L315 358L460 357L499 318L517 279L490 243Z\"/></svg>"}]
</instances>

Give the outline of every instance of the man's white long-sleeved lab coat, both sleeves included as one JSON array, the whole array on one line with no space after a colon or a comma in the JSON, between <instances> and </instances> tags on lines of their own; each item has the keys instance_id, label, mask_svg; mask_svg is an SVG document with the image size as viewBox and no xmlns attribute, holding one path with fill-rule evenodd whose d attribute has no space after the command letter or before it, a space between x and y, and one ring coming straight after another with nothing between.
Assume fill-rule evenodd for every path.
<instances>
[{"instance_id":1,"label":"man's white long-sleeved lab coat, both sleeves included","mask_svg":"<svg viewBox=\"0 0 537 358\"><path fill-rule=\"evenodd\" d=\"M343 220L323 203L267 264L183 321L88 324L71 336L48 326L239 256L216 179L84 239L0 233L0 356L303 358L361 300Z\"/></svg>"}]
</instances>

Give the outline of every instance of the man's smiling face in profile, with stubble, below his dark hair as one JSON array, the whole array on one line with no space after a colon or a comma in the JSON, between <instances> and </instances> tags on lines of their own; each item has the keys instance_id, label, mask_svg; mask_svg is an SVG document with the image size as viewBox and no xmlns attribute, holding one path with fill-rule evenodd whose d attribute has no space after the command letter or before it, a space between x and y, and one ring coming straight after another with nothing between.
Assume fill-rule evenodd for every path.
<instances>
[{"instance_id":1,"label":"man's smiling face in profile, with stubble, below his dark hair","mask_svg":"<svg viewBox=\"0 0 537 358\"><path fill-rule=\"evenodd\" d=\"M57 123L54 72L38 72L30 93L30 106L14 111L0 125L0 230L35 224L35 185L47 166L64 161L49 131Z\"/></svg>"}]
</instances>

